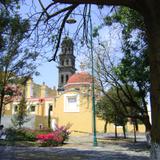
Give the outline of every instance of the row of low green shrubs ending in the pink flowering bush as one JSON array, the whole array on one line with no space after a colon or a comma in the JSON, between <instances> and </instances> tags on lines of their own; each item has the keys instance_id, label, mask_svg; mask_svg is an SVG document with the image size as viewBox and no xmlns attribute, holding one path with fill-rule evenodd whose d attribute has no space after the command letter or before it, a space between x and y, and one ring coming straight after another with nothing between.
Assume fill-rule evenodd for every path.
<instances>
[{"instance_id":1,"label":"row of low green shrubs ending in the pink flowering bush","mask_svg":"<svg viewBox=\"0 0 160 160\"><path fill-rule=\"evenodd\" d=\"M58 127L55 131L51 129L32 130L32 129L6 129L6 140L9 141L36 141L40 146L58 146L68 140L70 132L69 126Z\"/></svg>"}]
</instances>

